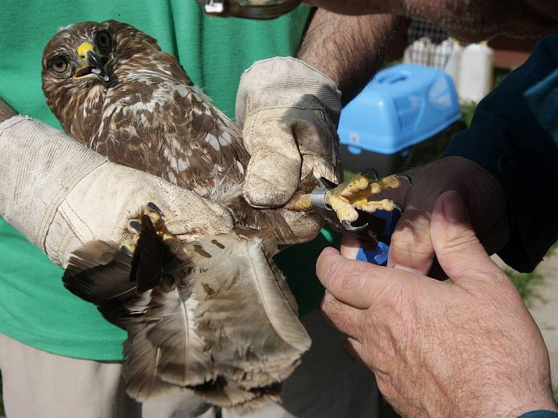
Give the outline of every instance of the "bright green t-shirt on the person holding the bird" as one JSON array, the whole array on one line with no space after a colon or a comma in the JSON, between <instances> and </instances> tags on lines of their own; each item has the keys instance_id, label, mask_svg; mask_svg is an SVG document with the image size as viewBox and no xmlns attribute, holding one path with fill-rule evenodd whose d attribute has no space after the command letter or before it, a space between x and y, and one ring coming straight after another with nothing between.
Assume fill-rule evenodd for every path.
<instances>
[{"instance_id":1,"label":"bright green t-shirt on the person holding the bird","mask_svg":"<svg viewBox=\"0 0 558 418\"><path fill-rule=\"evenodd\" d=\"M310 9L257 22L208 17L194 0L5 1L0 14L0 97L22 114L60 127L40 88L47 40L61 26L115 19L137 26L179 58L193 81L234 117L240 75L254 61L296 52ZM301 311L322 295L315 259L327 233L278 256ZM288 262L287 262L288 261ZM42 350L86 359L121 359L126 333L61 283L61 268L0 218L0 332ZM312 279L308 279L312 277Z\"/></svg>"}]
</instances>

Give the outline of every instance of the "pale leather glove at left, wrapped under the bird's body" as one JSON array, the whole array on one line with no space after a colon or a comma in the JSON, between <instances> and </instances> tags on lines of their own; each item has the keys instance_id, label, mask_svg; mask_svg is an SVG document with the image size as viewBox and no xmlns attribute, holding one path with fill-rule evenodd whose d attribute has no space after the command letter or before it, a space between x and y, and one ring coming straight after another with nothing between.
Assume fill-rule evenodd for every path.
<instances>
[{"instance_id":1,"label":"pale leather glove at left, wrapped under the bird's body","mask_svg":"<svg viewBox=\"0 0 558 418\"><path fill-rule=\"evenodd\" d=\"M121 243L129 219L152 201L174 235L232 228L227 209L156 176L108 162L54 128L23 116L0 123L0 215L66 267L84 242Z\"/></svg>"}]
</instances>

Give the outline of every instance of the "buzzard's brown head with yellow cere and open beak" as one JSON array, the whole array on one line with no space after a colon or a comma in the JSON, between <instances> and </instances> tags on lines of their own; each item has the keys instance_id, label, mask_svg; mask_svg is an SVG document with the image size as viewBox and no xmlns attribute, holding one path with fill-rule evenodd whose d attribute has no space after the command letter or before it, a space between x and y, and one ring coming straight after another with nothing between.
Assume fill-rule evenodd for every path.
<instances>
[{"instance_id":1,"label":"buzzard's brown head with yellow cere and open beak","mask_svg":"<svg viewBox=\"0 0 558 418\"><path fill-rule=\"evenodd\" d=\"M72 121L89 115L89 122L82 121L87 125L93 116L98 119L111 89L126 86L138 71L166 70L154 68L161 55L167 54L155 39L125 23L109 20L68 26L56 33L43 52L47 104L66 132L76 134ZM168 61L163 59L163 63ZM186 77L177 66L173 71Z\"/></svg>"}]
</instances>

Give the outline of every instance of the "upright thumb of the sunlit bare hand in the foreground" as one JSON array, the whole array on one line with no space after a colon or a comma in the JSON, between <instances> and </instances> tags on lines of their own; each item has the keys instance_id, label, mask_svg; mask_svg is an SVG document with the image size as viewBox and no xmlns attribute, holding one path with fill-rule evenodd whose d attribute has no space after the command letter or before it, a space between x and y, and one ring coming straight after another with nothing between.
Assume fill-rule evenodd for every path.
<instances>
[{"instance_id":1,"label":"upright thumb of the sunlit bare hand in the foreground","mask_svg":"<svg viewBox=\"0 0 558 418\"><path fill-rule=\"evenodd\" d=\"M475 291L502 277L502 270L476 238L465 203L455 190L437 199L430 235L439 264L454 284Z\"/></svg>"}]
</instances>

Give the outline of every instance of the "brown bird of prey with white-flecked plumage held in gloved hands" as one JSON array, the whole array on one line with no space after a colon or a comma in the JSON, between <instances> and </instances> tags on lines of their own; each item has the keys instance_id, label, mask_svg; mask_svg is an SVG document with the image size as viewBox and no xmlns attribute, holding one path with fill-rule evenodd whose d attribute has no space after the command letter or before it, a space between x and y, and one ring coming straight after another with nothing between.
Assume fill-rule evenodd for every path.
<instances>
[{"instance_id":1,"label":"brown bird of prey with white-flecked plumage held in gloved hands","mask_svg":"<svg viewBox=\"0 0 558 418\"><path fill-rule=\"evenodd\" d=\"M276 400L310 338L271 260L293 235L286 210L253 209L242 198L249 155L239 128L156 40L113 20L70 26L48 42L43 91L72 137L227 206L237 225L229 235L176 245L151 204L129 222L139 239L123 251L92 241L70 258L66 287L128 331L128 394L144 401L192 389L224 407ZM312 189L313 178L306 183ZM353 194L368 204L370 187L361 183L329 196L336 212L356 213ZM305 196L299 206L308 209Z\"/></svg>"}]
</instances>

